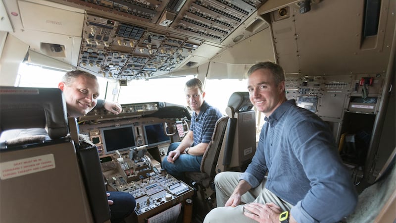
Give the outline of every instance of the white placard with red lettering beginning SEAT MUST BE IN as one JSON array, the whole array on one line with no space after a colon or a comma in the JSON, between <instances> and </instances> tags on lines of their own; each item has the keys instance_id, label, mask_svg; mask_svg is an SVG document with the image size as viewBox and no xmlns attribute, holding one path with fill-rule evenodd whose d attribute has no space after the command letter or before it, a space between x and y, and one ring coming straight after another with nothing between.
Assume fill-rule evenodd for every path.
<instances>
[{"instance_id":1,"label":"white placard with red lettering beginning SEAT MUST BE IN","mask_svg":"<svg viewBox=\"0 0 396 223\"><path fill-rule=\"evenodd\" d=\"M2 180L55 168L53 154L0 163Z\"/></svg>"}]
</instances>

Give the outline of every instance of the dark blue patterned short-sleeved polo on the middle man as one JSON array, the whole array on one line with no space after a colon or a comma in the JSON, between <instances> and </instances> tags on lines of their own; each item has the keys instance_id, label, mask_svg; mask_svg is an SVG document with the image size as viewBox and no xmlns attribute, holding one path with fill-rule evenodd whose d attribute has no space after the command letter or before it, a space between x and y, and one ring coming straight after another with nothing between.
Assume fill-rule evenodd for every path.
<instances>
[{"instance_id":1,"label":"dark blue patterned short-sleeved polo on the middle man","mask_svg":"<svg viewBox=\"0 0 396 223\"><path fill-rule=\"evenodd\" d=\"M214 125L223 114L215 107L203 101L199 114L193 112L190 131L194 133L194 145L209 143L212 139Z\"/></svg>"}]
</instances>

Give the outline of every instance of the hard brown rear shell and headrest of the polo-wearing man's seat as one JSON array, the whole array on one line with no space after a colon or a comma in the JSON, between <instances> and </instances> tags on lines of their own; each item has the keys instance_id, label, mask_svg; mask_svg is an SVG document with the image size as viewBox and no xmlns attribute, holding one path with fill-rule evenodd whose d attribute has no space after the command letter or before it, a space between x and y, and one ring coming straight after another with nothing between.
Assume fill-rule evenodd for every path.
<instances>
[{"instance_id":1,"label":"hard brown rear shell and headrest of the polo-wearing man's seat","mask_svg":"<svg viewBox=\"0 0 396 223\"><path fill-rule=\"evenodd\" d=\"M256 151L255 111L248 92L234 92L228 101L229 116L223 154L224 170L244 171Z\"/></svg>"}]
</instances>

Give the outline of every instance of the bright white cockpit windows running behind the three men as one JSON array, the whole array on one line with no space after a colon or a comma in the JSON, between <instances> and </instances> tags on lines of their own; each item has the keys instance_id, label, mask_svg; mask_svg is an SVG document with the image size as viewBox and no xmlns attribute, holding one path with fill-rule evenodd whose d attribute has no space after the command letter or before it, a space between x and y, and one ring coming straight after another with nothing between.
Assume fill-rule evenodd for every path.
<instances>
[{"instance_id":1,"label":"bright white cockpit windows running behind the three men","mask_svg":"<svg viewBox=\"0 0 396 223\"><path fill-rule=\"evenodd\" d=\"M66 71L52 70L36 65L21 63L18 71L17 87L45 87L57 88L58 83ZM32 75L34 74L34 75ZM184 86L195 76L181 76L172 78L158 78L148 80L134 80L127 86L108 91L108 80L98 76L100 86L100 99L119 102L120 104L133 104L143 102L167 102L187 106ZM228 99L233 92L247 91L246 80L237 79L207 79L205 81L205 101L217 107L223 114L227 108ZM109 94L112 92L114 95Z\"/></svg>"}]
</instances>

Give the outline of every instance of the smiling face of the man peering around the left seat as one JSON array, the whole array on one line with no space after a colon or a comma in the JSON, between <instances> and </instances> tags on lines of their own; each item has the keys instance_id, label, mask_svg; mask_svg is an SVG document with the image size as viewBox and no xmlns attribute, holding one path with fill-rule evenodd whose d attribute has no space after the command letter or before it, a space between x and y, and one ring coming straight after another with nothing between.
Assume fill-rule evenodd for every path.
<instances>
[{"instance_id":1,"label":"smiling face of the man peering around the left seat","mask_svg":"<svg viewBox=\"0 0 396 223\"><path fill-rule=\"evenodd\" d=\"M91 111L98 102L99 83L87 76L73 78L69 84L60 82L69 116L78 117Z\"/></svg>"}]
</instances>

